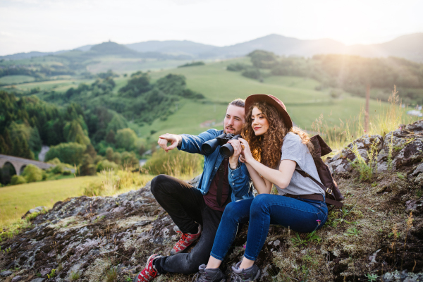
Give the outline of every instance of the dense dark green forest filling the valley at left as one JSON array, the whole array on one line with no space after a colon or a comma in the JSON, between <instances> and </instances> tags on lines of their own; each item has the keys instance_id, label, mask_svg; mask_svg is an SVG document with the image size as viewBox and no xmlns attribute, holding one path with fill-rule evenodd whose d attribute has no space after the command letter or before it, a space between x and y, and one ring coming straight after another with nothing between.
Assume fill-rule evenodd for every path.
<instances>
[{"instance_id":1,"label":"dense dark green forest filling the valley at left","mask_svg":"<svg viewBox=\"0 0 423 282\"><path fill-rule=\"evenodd\" d=\"M80 175L137 167L148 144L130 123L166 119L179 99L204 99L186 87L183 75L168 74L152 83L149 73L138 71L117 93L114 76L100 73L92 84L66 92L32 91L37 96L0 91L0 154L37 159L42 145L48 145L44 161L78 166ZM0 182L6 184L10 178L1 178L6 172L0 171Z\"/></svg>"}]
</instances>

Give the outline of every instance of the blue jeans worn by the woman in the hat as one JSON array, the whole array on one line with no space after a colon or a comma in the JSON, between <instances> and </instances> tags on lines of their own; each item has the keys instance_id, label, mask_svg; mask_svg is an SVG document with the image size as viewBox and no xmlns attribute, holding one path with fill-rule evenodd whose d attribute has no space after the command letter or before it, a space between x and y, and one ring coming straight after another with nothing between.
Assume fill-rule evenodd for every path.
<instances>
[{"instance_id":1,"label":"blue jeans worn by the woman in the hat","mask_svg":"<svg viewBox=\"0 0 423 282\"><path fill-rule=\"evenodd\" d=\"M223 260L235 240L239 223L250 221L244 257L256 260L270 224L289 226L297 232L312 232L323 226L327 217L326 203L318 200L260 194L254 199L231 202L223 212L210 255Z\"/></svg>"}]
</instances>

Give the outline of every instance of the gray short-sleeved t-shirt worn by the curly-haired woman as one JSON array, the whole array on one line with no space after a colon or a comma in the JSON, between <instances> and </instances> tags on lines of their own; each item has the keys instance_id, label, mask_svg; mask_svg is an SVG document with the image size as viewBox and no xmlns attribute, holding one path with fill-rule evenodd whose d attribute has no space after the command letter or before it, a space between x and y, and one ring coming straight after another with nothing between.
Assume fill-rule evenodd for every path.
<instances>
[{"instance_id":1,"label":"gray short-sleeved t-shirt worn by the curly-haired woman","mask_svg":"<svg viewBox=\"0 0 423 282\"><path fill-rule=\"evenodd\" d=\"M300 167L314 179L321 181L312 154L310 154L307 145L302 144L301 137L295 133L288 133L283 138L281 161L284 159L295 161L297 163L297 168ZM279 195L288 193L293 195L321 194L324 196L324 191L319 185L314 183L311 178L302 176L296 170L293 173L293 178L291 178L288 187L281 189L276 186L276 188L278 189Z\"/></svg>"}]
</instances>

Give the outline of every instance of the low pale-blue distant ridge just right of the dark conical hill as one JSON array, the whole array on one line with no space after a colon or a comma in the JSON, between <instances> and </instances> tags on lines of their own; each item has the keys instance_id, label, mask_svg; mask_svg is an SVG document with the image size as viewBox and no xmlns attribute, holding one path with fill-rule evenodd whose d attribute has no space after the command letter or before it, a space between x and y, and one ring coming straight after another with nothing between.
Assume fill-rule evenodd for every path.
<instances>
[{"instance_id":1,"label":"low pale-blue distant ridge just right of the dark conical hill","mask_svg":"<svg viewBox=\"0 0 423 282\"><path fill-rule=\"evenodd\" d=\"M218 47L196 43L188 40L147 41L125 44L126 47L138 52L160 52L172 55L195 55L208 52Z\"/></svg>"}]
</instances>

